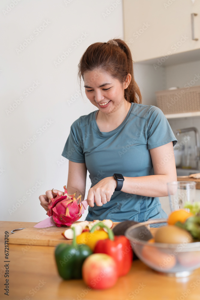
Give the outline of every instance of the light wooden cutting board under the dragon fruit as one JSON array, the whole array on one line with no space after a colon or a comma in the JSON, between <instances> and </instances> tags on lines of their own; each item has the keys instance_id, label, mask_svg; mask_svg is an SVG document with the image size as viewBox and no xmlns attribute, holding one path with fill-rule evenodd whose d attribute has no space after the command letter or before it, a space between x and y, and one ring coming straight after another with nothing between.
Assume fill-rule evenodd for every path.
<instances>
[{"instance_id":1,"label":"light wooden cutting board under the dragon fruit","mask_svg":"<svg viewBox=\"0 0 200 300\"><path fill-rule=\"evenodd\" d=\"M76 223L79 222L80 221L77 221ZM119 222L114 222L113 228L118 223ZM46 228L28 227L16 231L12 235L10 235L9 243L19 244L19 245L40 245L40 246L56 246L60 243L71 244L71 240L67 240L62 235L62 232L64 232L66 229L67 229L66 226L62 226L62 227L51 226Z\"/></svg>"}]
</instances>

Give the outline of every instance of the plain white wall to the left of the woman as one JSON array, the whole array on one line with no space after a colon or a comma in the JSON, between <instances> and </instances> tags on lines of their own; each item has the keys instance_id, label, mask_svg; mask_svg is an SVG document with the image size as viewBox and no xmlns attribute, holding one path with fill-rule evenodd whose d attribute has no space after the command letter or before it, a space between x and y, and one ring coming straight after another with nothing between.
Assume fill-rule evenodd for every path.
<instances>
[{"instance_id":1,"label":"plain white wall to the left of the woman","mask_svg":"<svg viewBox=\"0 0 200 300\"><path fill-rule=\"evenodd\" d=\"M67 184L68 162L61 153L70 125L96 110L78 95L79 59L94 42L123 38L122 4L13 2L0 3L0 219L38 222L46 218L38 196ZM29 140L30 146L22 149Z\"/></svg>"}]
</instances>

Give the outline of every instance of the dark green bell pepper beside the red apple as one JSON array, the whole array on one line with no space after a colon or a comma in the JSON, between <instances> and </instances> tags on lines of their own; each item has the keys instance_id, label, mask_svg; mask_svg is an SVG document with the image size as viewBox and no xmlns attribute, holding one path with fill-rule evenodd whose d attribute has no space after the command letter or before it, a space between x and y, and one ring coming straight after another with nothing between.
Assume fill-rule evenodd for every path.
<instances>
[{"instance_id":1,"label":"dark green bell pepper beside the red apple","mask_svg":"<svg viewBox=\"0 0 200 300\"><path fill-rule=\"evenodd\" d=\"M74 232L72 244L59 244L55 249L58 273L63 279L82 278L83 262L93 253L89 246L85 244L77 245L75 229L74 227L72 229Z\"/></svg>"}]
</instances>

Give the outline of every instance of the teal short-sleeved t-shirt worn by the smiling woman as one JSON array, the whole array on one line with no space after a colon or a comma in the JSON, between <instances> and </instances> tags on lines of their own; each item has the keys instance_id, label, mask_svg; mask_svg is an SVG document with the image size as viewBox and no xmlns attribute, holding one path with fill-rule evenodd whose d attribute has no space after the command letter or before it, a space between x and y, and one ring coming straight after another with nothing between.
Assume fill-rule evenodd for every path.
<instances>
[{"instance_id":1,"label":"teal short-sleeved t-shirt worn by the smiling woman","mask_svg":"<svg viewBox=\"0 0 200 300\"><path fill-rule=\"evenodd\" d=\"M99 130L96 112L82 116L72 124L62 153L70 161L86 164L91 187L114 173L125 177L153 175L149 149L172 141L173 145L177 143L166 117L155 106L132 103L121 125L109 132ZM115 191L110 202L89 207L86 220L144 222L166 217L159 198Z\"/></svg>"}]
</instances>

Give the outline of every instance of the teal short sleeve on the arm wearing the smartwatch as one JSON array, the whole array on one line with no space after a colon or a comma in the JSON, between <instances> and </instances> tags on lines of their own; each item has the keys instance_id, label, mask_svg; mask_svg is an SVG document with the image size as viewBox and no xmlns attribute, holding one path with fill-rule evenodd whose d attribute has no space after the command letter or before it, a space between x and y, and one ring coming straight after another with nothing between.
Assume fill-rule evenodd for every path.
<instances>
[{"instance_id":1,"label":"teal short sleeve on the arm wearing the smartwatch","mask_svg":"<svg viewBox=\"0 0 200 300\"><path fill-rule=\"evenodd\" d=\"M173 142L176 145L177 139L160 108L150 106L148 109L148 117L146 120L146 134L148 150L167 143Z\"/></svg>"}]
</instances>

